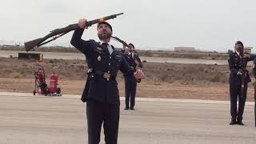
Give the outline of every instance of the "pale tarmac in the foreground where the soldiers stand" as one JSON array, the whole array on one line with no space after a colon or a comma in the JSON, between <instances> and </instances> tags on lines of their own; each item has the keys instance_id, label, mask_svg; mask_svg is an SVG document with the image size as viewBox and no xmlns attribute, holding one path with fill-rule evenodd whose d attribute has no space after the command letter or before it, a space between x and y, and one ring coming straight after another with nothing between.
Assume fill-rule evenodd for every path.
<instances>
[{"instance_id":1,"label":"pale tarmac in the foreground where the soldiers stand","mask_svg":"<svg viewBox=\"0 0 256 144\"><path fill-rule=\"evenodd\" d=\"M87 143L86 104L78 95L0 93L0 144ZM254 102L245 126L230 126L230 102L137 98L123 110L118 144L254 144ZM101 144L104 134L102 130Z\"/></svg>"}]
</instances>

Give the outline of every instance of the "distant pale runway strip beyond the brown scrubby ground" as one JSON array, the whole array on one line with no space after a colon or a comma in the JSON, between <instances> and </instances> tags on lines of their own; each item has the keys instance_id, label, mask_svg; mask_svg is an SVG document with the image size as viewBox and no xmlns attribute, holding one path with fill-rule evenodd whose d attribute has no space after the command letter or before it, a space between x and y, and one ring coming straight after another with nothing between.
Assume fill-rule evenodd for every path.
<instances>
[{"instance_id":1,"label":"distant pale runway strip beyond the brown scrubby ground","mask_svg":"<svg viewBox=\"0 0 256 144\"><path fill-rule=\"evenodd\" d=\"M13 51L13 50L0 50L0 57L10 58L18 57L18 52L26 53L25 51ZM37 53L37 52L29 52ZM40 52L43 54L43 58L50 59L85 59L83 54L78 53L54 53L54 52ZM159 57L140 57L141 60L146 62L169 62L169 63L185 63L185 64L207 64L207 65L227 65L227 60L206 60L206 59L190 59L190 58L159 58Z\"/></svg>"}]
</instances>

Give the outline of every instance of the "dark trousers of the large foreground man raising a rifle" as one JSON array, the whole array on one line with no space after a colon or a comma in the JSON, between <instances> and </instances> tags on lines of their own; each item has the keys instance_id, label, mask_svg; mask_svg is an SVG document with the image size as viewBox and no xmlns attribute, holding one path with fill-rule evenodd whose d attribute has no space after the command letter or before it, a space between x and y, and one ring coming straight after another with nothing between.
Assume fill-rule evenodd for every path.
<instances>
[{"instance_id":1,"label":"dark trousers of the large foreground man raising a rifle","mask_svg":"<svg viewBox=\"0 0 256 144\"><path fill-rule=\"evenodd\" d=\"M118 143L120 104L86 102L88 144L98 144L103 123L106 144Z\"/></svg>"}]
</instances>

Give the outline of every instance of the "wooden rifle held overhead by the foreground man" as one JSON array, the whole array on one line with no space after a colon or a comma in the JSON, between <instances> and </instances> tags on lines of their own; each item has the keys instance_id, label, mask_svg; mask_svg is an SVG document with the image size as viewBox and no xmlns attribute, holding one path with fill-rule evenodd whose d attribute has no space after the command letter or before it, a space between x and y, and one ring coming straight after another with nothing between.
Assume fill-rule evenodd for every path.
<instances>
[{"instance_id":1,"label":"wooden rifle held overhead by the foreground man","mask_svg":"<svg viewBox=\"0 0 256 144\"><path fill-rule=\"evenodd\" d=\"M106 16L106 17L103 17L103 18L98 18L98 19L94 19L92 21L88 21L88 22L86 22L86 26L92 26L96 23L100 23L100 22L103 22L103 21L106 21L106 20L109 20L109 19L117 18L117 16L121 15L121 14L123 14L123 13L112 14L112 15L109 15L109 16ZM42 45L44 45L48 42L54 41L55 39L60 38L62 35L67 34L70 31L76 30L78 28L79 28L79 26L76 23L76 24L71 24L69 26L66 26L64 28L52 30L52 31L50 31L50 34L47 34L43 38L37 38L37 39L34 39L30 42L25 42L24 43L25 49L26 49L26 51L32 50L34 47L42 46ZM52 39L46 41L48 38L52 38Z\"/></svg>"}]
</instances>

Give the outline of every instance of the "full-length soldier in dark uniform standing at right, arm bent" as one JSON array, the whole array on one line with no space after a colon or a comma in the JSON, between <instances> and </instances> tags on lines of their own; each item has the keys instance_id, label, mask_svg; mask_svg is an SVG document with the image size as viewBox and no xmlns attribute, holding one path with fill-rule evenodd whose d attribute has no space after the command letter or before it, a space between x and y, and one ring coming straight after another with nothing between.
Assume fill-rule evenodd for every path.
<instances>
[{"instance_id":1,"label":"full-length soldier in dark uniform standing at right, arm bent","mask_svg":"<svg viewBox=\"0 0 256 144\"><path fill-rule=\"evenodd\" d=\"M244 125L242 114L246 103L248 82L251 81L246 65L248 61L254 60L255 56L248 53L244 54L243 44L240 41L235 43L234 48L235 51L230 52L228 60L230 66L230 125Z\"/></svg>"}]
</instances>

